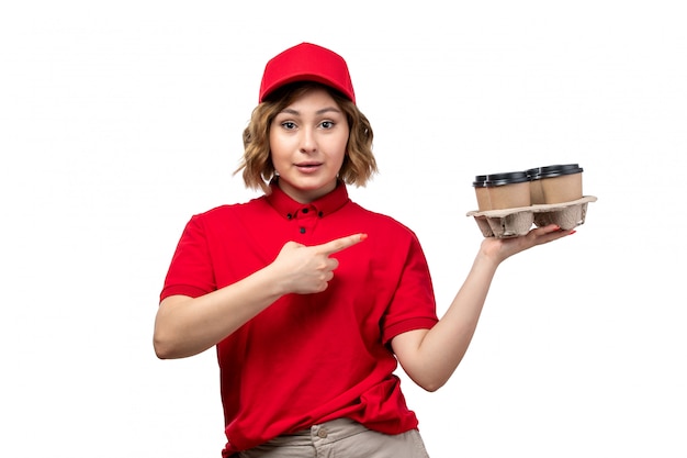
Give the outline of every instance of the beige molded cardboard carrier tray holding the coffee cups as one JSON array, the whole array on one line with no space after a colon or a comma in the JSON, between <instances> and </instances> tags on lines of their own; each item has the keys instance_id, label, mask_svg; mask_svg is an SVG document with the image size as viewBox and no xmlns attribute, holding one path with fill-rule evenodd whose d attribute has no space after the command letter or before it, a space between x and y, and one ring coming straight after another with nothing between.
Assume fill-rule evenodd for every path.
<instances>
[{"instance_id":1,"label":"beige molded cardboard carrier tray holding the coffee cups","mask_svg":"<svg viewBox=\"0 0 687 458\"><path fill-rule=\"evenodd\" d=\"M503 210L471 211L485 237L517 237L527 234L532 226L542 227L558 224L564 231L584 224L587 216L587 204L596 202L596 197L585 196L582 199L562 203L543 203Z\"/></svg>"}]
</instances>

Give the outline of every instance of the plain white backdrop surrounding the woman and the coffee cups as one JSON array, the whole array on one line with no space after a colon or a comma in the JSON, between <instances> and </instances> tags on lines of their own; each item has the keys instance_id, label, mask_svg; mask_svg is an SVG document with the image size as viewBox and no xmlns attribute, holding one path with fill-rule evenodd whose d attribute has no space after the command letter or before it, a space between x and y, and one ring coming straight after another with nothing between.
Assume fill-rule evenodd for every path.
<instances>
[{"instance_id":1,"label":"plain white backdrop surrounding the woman and the coffee cups","mask_svg":"<svg viewBox=\"0 0 687 458\"><path fill-rule=\"evenodd\" d=\"M578 163L575 235L506 261L423 392L432 458L686 457L687 27L679 1L23 1L0 7L4 457L218 457L214 353L158 360L191 214L232 176L268 58L348 60L442 313L482 239L475 175Z\"/></svg>"}]
</instances>

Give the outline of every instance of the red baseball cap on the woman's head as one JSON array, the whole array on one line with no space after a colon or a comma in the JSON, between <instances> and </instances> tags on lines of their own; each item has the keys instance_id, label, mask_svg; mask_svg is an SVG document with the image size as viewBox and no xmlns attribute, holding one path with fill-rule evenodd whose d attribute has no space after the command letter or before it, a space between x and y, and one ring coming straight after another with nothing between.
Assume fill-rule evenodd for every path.
<instances>
[{"instance_id":1,"label":"red baseball cap on the woman's head","mask_svg":"<svg viewBox=\"0 0 687 458\"><path fill-rule=\"evenodd\" d=\"M301 43L272 57L264 66L260 98L295 81L316 81L329 86L356 103L353 83L344 57L325 47Z\"/></svg>"}]
</instances>

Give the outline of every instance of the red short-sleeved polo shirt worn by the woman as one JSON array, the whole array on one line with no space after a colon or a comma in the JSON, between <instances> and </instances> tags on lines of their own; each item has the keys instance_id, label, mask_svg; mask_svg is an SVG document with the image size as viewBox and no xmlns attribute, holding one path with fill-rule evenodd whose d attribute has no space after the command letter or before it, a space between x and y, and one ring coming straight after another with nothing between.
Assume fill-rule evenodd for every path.
<instances>
[{"instance_id":1,"label":"red short-sleeved polo shirt worn by the woman","mask_svg":"<svg viewBox=\"0 0 687 458\"><path fill-rule=\"evenodd\" d=\"M316 294L286 294L217 345L227 445L223 456L338 417L386 434L417 427L388 342L437 323L427 261L415 234L370 212L340 183L301 204L277 186L187 224L160 298L199 297L274 260L289 241L318 245L356 233L334 279Z\"/></svg>"}]
</instances>

